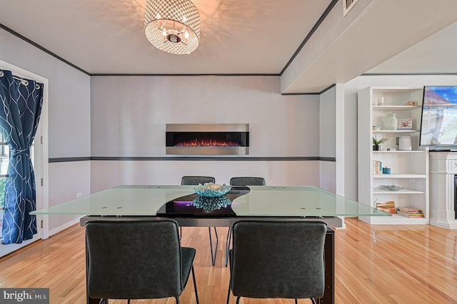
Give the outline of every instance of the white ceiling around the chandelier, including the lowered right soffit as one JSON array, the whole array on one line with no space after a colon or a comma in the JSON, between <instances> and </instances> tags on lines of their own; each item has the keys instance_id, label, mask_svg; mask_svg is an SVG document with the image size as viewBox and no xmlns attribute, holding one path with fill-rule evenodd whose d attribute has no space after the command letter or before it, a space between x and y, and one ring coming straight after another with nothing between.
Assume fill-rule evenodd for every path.
<instances>
[{"instance_id":1,"label":"white ceiling around the chandelier, including the lowered right soffit","mask_svg":"<svg viewBox=\"0 0 457 304\"><path fill-rule=\"evenodd\" d=\"M332 2L194 0L189 55L149 44L146 0L0 0L0 23L89 74L281 74L282 93L315 93L366 72L457 73L455 0L359 0L345 18L340 0L318 23Z\"/></svg>"}]
</instances>

